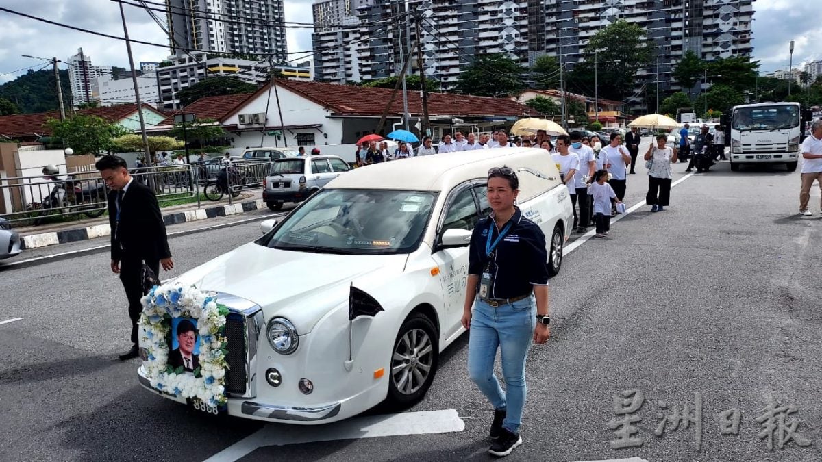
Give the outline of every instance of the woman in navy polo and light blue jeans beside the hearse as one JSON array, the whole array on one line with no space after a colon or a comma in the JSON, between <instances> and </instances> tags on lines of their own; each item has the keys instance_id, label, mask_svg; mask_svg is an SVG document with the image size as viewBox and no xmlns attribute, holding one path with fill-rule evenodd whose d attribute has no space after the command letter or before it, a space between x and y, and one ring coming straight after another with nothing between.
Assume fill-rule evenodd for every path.
<instances>
[{"instance_id":1,"label":"woman in navy polo and light blue jeans beside the hearse","mask_svg":"<svg viewBox=\"0 0 822 462\"><path fill-rule=\"evenodd\" d=\"M503 456L522 444L525 357L531 340L544 344L551 335L548 256L542 229L514 205L520 192L516 173L507 167L491 169L487 187L493 213L479 221L471 236L462 324L471 330L471 380L494 406L490 435L495 441L488 452ZM507 395L494 375L497 349Z\"/></svg>"}]
</instances>

